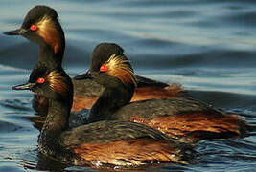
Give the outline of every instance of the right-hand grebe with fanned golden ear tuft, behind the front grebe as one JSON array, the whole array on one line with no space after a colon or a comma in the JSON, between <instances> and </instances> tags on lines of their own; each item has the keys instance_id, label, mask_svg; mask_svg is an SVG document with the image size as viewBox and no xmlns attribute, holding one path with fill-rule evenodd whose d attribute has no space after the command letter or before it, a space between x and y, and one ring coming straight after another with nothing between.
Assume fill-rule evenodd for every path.
<instances>
[{"instance_id":1,"label":"right-hand grebe with fanned golden ear tuft, behind the front grebe","mask_svg":"<svg viewBox=\"0 0 256 172\"><path fill-rule=\"evenodd\" d=\"M88 122L129 120L149 125L172 138L191 142L238 137L249 129L238 115L222 112L188 97L129 103L136 82L127 57L113 54L106 61L98 62L98 71L76 77L91 77L105 86L103 95L90 110Z\"/></svg>"}]
</instances>

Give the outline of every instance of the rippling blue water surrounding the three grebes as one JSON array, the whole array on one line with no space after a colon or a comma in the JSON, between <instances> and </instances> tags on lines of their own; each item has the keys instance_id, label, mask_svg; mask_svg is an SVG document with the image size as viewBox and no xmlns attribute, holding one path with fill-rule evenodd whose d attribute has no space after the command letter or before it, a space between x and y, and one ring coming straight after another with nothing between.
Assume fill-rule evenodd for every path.
<instances>
[{"instance_id":1,"label":"rippling blue water surrounding the three grebes","mask_svg":"<svg viewBox=\"0 0 256 172\"><path fill-rule=\"evenodd\" d=\"M181 83L185 90L249 123L256 117L256 1L254 0L1 0L0 32L18 28L36 4L58 11L66 35L64 68L88 68L100 42L116 42L137 74ZM0 34L0 171L58 170L37 156L32 94L12 91L28 79L37 46ZM197 144L198 162L148 170L255 171L256 136ZM65 168L66 171L90 168Z\"/></svg>"}]
</instances>

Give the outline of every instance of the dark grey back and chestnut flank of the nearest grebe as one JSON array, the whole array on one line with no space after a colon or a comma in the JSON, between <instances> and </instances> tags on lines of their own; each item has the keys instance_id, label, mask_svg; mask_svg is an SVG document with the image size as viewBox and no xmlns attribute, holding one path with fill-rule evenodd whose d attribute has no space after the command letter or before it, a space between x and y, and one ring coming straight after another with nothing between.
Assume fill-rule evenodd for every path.
<instances>
[{"instance_id":1,"label":"dark grey back and chestnut flank of the nearest grebe","mask_svg":"<svg viewBox=\"0 0 256 172\"><path fill-rule=\"evenodd\" d=\"M147 162L187 163L191 148L170 140L151 127L125 121L99 121L64 132L61 146L84 161L114 165Z\"/></svg>"}]
</instances>

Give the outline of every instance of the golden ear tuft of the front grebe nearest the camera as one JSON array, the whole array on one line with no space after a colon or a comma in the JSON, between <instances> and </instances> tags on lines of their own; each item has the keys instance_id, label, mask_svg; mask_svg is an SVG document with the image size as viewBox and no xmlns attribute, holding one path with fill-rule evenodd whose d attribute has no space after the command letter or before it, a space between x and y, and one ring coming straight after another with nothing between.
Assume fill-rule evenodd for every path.
<instances>
[{"instance_id":1,"label":"golden ear tuft of the front grebe nearest the camera","mask_svg":"<svg viewBox=\"0 0 256 172\"><path fill-rule=\"evenodd\" d=\"M46 76L46 80L49 82L51 89L55 90L59 94L63 94L68 91L65 78L63 78L58 72L51 72Z\"/></svg>"}]
</instances>

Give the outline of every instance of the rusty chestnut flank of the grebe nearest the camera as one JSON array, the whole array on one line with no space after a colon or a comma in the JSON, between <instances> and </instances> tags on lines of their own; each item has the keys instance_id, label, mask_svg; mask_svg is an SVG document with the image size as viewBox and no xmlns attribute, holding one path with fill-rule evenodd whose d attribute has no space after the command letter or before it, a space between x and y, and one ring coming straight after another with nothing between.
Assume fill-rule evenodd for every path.
<instances>
[{"instance_id":1,"label":"rusty chestnut flank of the grebe nearest the camera","mask_svg":"<svg viewBox=\"0 0 256 172\"><path fill-rule=\"evenodd\" d=\"M184 150L164 140L136 139L107 143L81 144L72 149L83 160L120 166L152 162L188 163ZM181 153L182 152L182 153Z\"/></svg>"}]
</instances>

